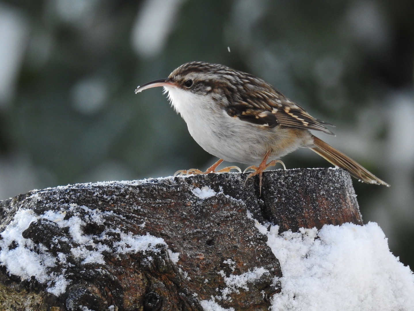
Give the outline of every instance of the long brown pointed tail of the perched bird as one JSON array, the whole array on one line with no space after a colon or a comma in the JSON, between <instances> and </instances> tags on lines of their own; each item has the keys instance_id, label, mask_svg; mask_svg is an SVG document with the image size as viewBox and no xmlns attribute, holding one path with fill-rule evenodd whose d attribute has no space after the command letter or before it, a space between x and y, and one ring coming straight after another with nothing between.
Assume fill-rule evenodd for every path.
<instances>
[{"instance_id":1,"label":"long brown pointed tail of the perched bird","mask_svg":"<svg viewBox=\"0 0 414 311\"><path fill-rule=\"evenodd\" d=\"M312 147L310 149L312 149L314 152L319 154L321 157L333 165L339 166L342 169L346 169L349 171L349 174L355 178L358 178L359 180L366 183L384 185L387 187L390 186L388 183L382 181L380 178L363 168L360 164L356 163L353 159L347 157L342 152L339 152L337 149L331 147L323 140L320 140L318 137L313 136L313 144L315 147Z\"/></svg>"}]
</instances>

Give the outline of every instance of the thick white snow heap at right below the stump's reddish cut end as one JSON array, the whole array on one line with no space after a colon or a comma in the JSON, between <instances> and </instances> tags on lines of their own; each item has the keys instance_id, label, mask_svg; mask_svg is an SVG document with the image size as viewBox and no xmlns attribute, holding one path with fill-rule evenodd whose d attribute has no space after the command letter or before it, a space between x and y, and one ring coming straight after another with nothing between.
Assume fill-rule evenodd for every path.
<instances>
[{"instance_id":1,"label":"thick white snow heap at right below the stump's reddish cut end","mask_svg":"<svg viewBox=\"0 0 414 311\"><path fill-rule=\"evenodd\" d=\"M414 310L413 273L390 253L378 224L278 230L267 232L283 273L272 311Z\"/></svg>"}]
</instances>

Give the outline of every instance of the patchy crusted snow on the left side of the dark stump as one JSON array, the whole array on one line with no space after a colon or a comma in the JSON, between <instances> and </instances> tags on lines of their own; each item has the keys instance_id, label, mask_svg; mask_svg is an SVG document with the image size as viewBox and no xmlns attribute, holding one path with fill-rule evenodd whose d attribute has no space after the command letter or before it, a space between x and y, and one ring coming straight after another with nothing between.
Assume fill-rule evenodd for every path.
<instances>
[{"instance_id":1,"label":"patchy crusted snow on the left side of the dark stump","mask_svg":"<svg viewBox=\"0 0 414 311\"><path fill-rule=\"evenodd\" d=\"M105 252L113 254L126 254L154 251L159 252L157 244L166 245L164 239L146 235L135 235L124 233L120 229L105 229L100 235L84 234L83 227L89 223L103 224L107 212L101 212L99 209L91 210L85 206L70 204L69 211L73 216L65 219L66 212L48 210L43 215L36 215L33 210L20 209L14 215L14 219L0 233L0 265L7 268L7 272L20 276L22 280L30 280L32 276L40 283L47 284L46 291L59 296L65 293L70 280L65 278L65 268L60 273L51 272L52 267L58 264L62 267L67 266L67 255L57 253L53 256L49 253L46 246L35 244L31 239L24 239L22 233L29 228L32 222L40 219L47 219L54 222L60 228L69 228L68 232L71 241L62 237L62 241L75 243L70 249L74 258L82 260L81 264L99 263L105 264ZM87 212L82 215L79 209ZM116 233L114 235L114 233ZM106 243L113 241L110 248ZM111 243L109 243L111 245ZM167 246L168 249L168 246ZM173 263L178 262L179 253L173 253L170 250L169 255ZM151 258L149 257L149 260Z\"/></svg>"}]
</instances>

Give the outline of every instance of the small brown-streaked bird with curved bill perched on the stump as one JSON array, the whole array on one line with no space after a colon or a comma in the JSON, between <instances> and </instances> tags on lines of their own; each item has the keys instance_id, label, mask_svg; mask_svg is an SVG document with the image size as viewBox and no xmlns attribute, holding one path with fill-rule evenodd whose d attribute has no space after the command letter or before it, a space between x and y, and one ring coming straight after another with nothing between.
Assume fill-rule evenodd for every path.
<instances>
[{"instance_id":1,"label":"small brown-streaked bird with curved bill perched on the stump","mask_svg":"<svg viewBox=\"0 0 414 311\"><path fill-rule=\"evenodd\" d=\"M332 124L313 118L294 101L254 75L226 65L192 61L173 70L167 78L138 86L135 94L152 87L164 88L164 94L187 123L193 139L205 151L219 158L205 172L190 169L177 173L240 171L237 166L216 171L223 160L248 164L247 169L253 169L253 173L246 181L259 175L261 192L265 169L277 162L284 166L279 158L298 148L309 148L331 164L347 170L359 181L389 186L310 132L315 130L334 135L327 128Z\"/></svg>"}]
</instances>

